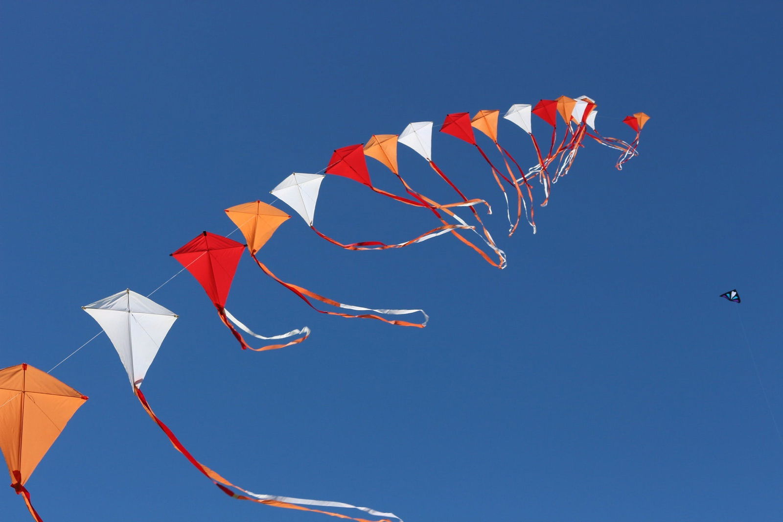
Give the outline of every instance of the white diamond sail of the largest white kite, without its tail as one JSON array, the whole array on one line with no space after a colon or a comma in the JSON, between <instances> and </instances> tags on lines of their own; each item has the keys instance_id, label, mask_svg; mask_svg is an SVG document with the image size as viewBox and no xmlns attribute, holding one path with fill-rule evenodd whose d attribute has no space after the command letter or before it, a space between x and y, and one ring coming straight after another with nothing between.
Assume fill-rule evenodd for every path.
<instances>
[{"instance_id":1,"label":"white diamond sail of the largest white kite, without its tail","mask_svg":"<svg viewBox=\"0 0 783 522\"><path fill-rule=\"evenodd\" d=\"M132 290L124 290L82 306L108 335L128 372L132 386L141 386L157 350L177 315Z\"/></svg>"}]
</instances>

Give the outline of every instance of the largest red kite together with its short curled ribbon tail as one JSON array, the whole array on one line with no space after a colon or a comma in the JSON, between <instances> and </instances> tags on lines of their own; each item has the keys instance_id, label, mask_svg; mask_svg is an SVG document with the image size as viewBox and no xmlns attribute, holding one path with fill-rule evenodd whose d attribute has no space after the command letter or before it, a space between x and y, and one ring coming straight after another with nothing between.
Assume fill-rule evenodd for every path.
<instances>
[{"instance_id":1,"label":"largest red kite together with its short curled ribbon tail","mask_svg":"<svg viewBox=\"0 0 783 522\"><path fill-rule=\"evenodd\" d=\"M272 228L271 232L269 230L259 230L261 237L267 233L271 235L274 228ZM240 262L240 257L242 256L242 252L244 252L244 248L245 245L233 241L228 237L222 237L218 236L218 234L204 231L194 237L193 240L189 241L186 245L179 248L179 250L173 252L171 256L179 261L190 274L193 274L193 277L196 277L196 280L200 283L202 288L204 288L204 291L207 292L207 296L209 296L212 300L212 304L215 305L215 308L218 310L220 320L223 321L223 324L233 333L243 350L262 352L301 343L310 335L310 329L306 326L297 330L291 330L284 334L266 337L254 333L250 328L247 328L247 326L236 319L229 310L226 310L226 299L228 299L229 289L231 288L231 283L234 274L236 273L236 266ZM301 337L285 344L272 344L269 346L262 346L261 348L253 348L247 344L247 341L245 341L242 334L236 331L234 325L257 339L287 339L294 335L301 335Z\"/></svg>"}]
</instances>

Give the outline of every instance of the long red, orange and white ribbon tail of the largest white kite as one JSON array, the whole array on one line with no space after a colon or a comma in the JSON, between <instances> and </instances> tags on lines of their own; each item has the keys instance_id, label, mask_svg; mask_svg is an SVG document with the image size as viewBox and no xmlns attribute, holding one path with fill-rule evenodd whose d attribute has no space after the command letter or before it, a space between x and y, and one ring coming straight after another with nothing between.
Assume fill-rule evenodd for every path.
<instances>
[{"instance_id":1,"label":"long red, orange and white ribbon tail of the largest white kite","mask_svg":"<svg viewBox=\"0 0 783 522\"><path fill-rule=\"evenodd\" d=\"M188 459L188 462L190 462L196 469L198 469L200 473L204 474L204 476L207 477L209 480L211 480L212 483L215 484L215 486L220 488L221 491L223 491L224 493L226 493L226 495L229 495L232 498L236 498L238 500L250 500L251 502L258 502L259 504L265 504L267 506L281 507L287 509L299 509L301 511L311 511L312 513L322 513L324 515L330 515L331 517L339 517L347 520L356 520L356 522L391 522L391 520L388 520L388 518L384 518L382 520L366 520L363 518L348 517L347 515L343 515L341 513L321 511L320 509L309 509L306 507L297 506L296 504L306 504L310 506L347 507L347 508L360 509L366 513L370 513L370 515L375 515L379 517L392 517L402 522L402 519L397 517L394 513L380 513L378 511L375 511L374 509L352 506L350 504L344 504L342 502L325 502L319 500L309 500L306 498L287 498L287 497L275 497L272 495L257 495L255 493L251 493L250 491L245 491L239 486L236 486L235 484L232 484L225 478L221 477L218 473L215 473L215 471L213 471L212 469L208 468L207 466L204 466L204 464L202 464L201 462L198 462L195 459L195 457L191 455L190 451L188 451L187 448L185 448L185 446L182 445L179 439L175 436L174 432L172 432L171 429L168 426L166 426L165 423L157 417L157 415L155 415L155 412L152 411L152 408L150 408L150 404L146 401L146 397L144 397L144 393L142 393L142 390L139 390L139 387L134 386L133 391L136 397L139 399L139 402L142 404L144 411L146 411L147 415L150 415L150 418L153 419L153 421L155 421L155 423L157 424L157 426L161 428L161 430L163 430L163 433L166 434L166 437L168 437L168 440L169 442L171 442L171 445L173 445L177 451L182 453L182 455L184 455L185 458ZM255 498L249 498L249 497L245 497L244 495L238 495L235 492L231 491L229 488L234 488L238 491L242 491L243 493L246 493L247 495L251 495ZM290 502L284 502L284 500L289 500ZM38 522L42 522L40 518L36 518L36 520L38 520Z\"/></svg>"}]
</instances>

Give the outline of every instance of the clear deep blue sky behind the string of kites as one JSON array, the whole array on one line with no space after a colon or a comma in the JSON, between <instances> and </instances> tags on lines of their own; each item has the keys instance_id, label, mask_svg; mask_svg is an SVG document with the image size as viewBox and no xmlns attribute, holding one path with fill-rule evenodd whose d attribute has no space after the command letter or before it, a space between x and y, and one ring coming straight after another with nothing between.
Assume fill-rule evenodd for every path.
<instances>
[{"instance_id":1,"label":"clear deep blue sky behind the string of kites","mask_svg":"<svg viewBox=\"0 0 783 522\"><path fill-rule=\"evenodd\" d=\"M737 315L780 422L781 5L645 4L4 2L0 367L51 368L99 331L80 306L151 292L180 268L170 252L233 230L224 208L271 202L337 147L586 94L606 136L630 140L622 118L651 115L640 156L619 172L586 143L535 236L506 237L480 156L434 138L438 165L493 203L507 270L448 236L349 252L298 216L260 252L345 303L424 308L428 328L316 314L246 256L229 310L311 339L241 351L183 273L153 295L181 317L146 396L258 493L408 522L781 520L783 444ZM507 121L500 143L535 163ZM454 201L399 154L415 188ZM327 176L316 225L397 242L438 222ZM718 298L731 288L741 305ZM327 520L218 491L135 401L104 335L52 375L90 400L27 484L45 520ZM11 488L0 513L29 520Z\"/></svg>"}]
</instances>

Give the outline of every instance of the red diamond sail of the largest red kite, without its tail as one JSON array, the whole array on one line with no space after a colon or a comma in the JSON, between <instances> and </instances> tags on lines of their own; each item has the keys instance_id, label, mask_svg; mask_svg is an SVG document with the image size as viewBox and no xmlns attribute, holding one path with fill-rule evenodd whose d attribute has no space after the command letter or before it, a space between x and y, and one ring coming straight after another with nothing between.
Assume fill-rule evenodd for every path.
<instances>
[{"instance_id":1,"label":"red diamond sail of the largest red kite, without its tail","mask_svg":"<svg viewBox=\"0 0 783 522\"><path fill-rule=\"evenodd\" d=\"M203 232L171 254L196 277L212 303L226 306L229 289L245 245L228 237Z\"/></svg>"}]
</instances>

